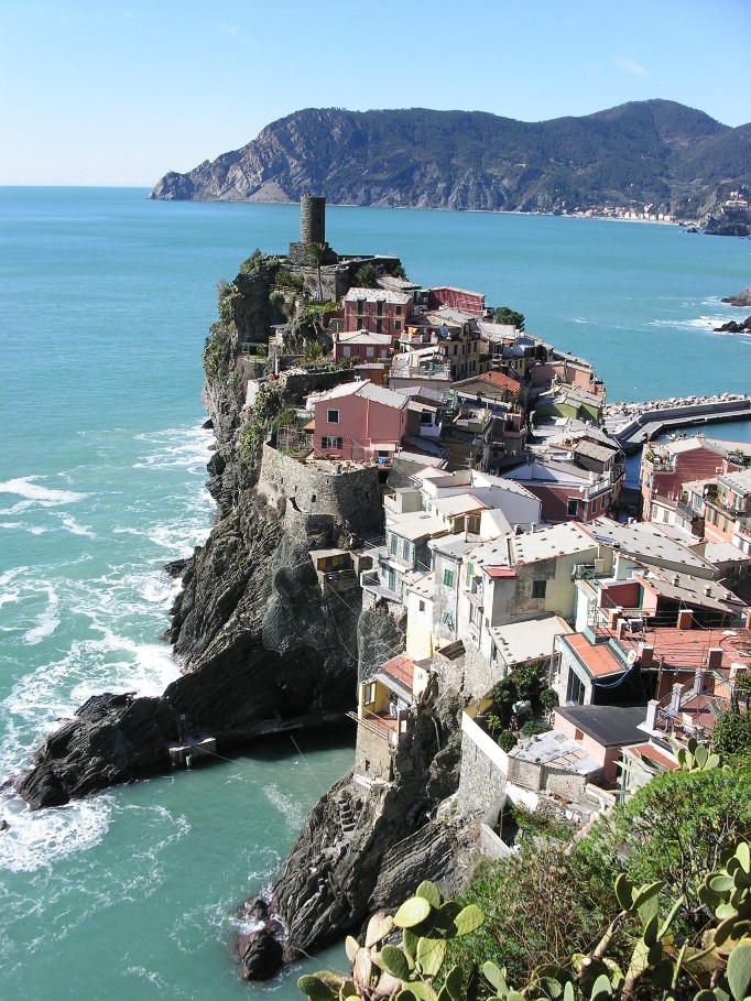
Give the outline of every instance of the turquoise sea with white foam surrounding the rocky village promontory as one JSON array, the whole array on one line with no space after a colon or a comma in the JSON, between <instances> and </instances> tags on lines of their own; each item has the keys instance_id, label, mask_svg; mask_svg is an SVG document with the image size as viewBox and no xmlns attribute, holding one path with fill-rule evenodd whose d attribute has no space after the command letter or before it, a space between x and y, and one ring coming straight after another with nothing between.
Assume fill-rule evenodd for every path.
<instances>
[{"instance_id":1,"label":"turquoise sea with white foam surrounding the rocky village promontory","mask_svg":"<svg viewBox=\"0 0 751 1001\"><path fill-rule=\"evenodd\" d=\"M151 202L138 188L0 188L0 992L17 1001L302 997L238 979L241 902L268 886L352 735L276 737L193 771L31 813L7 780L90 695L156 694L164 572L210 530L200 353L216 284L283 253L296 206ZM340 253L509 305L589 359L609 400L751 385L751 337L712 328L751 241L678 226L328 207ZM749 311L751 312L751 311ZM748 440L751 424L717 425Z\"/></svg>"}]
</instances>

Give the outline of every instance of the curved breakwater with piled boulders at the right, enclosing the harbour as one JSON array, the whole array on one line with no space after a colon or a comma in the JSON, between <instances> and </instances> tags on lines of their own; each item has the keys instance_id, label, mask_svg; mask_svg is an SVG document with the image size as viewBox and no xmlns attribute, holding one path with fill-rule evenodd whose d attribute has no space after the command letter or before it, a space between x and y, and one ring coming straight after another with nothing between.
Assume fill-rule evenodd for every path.
<instances>
[{"instance_id":1,"label":"curved breakwater with piled boulders at the right, enclosing the harbour","mask_svg":"<svg viewBox=\"0 0 751 1001\"><path fill-rule=\"evenodd\" d=\"M685 396L644 403L609 403L605 426L624 451L636 451L664 431L751 417L751 398L739 393Z\"/></svg>"}]
</instances>

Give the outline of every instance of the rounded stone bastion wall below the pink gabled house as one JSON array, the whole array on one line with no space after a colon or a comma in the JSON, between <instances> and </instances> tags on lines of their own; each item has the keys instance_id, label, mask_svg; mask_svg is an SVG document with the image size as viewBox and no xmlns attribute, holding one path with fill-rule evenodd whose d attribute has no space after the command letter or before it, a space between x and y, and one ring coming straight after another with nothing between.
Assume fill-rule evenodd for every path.
<instances>
[{"instance_id":1,"label":"rounded stone bastion wall below the pink gabled house","mask_svg":"<svg viewBox=\"0 0 751 1001\"><path fill-rule=\"evenodd\" d=\"M295 535L304 524L329 532L331 527L358 534L381 531L381 490L374 466L334 472L328 464L318 468L300 463L264 444L258 492L280 512L284 510L285 527L289 512ZM319 522L322 516L333 521Z\"/></svg>"}]
</instances>

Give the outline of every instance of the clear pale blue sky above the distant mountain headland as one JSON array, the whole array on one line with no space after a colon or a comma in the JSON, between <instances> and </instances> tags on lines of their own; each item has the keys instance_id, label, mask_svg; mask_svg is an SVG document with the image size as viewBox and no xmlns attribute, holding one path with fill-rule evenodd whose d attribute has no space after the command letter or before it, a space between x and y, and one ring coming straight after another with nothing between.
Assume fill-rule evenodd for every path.
<instances>
[{"instance_id":1,"label":"clear pale blue sky above the distant mountain headland","mask_svg":"<svg viewBox=\"0 0 751 1001\"><path fill-rule=\"evenodd\" d=\"M751 121L751 0L0 0L0 184L143 185L301 108Z\"/></svg>"}]
</instances>

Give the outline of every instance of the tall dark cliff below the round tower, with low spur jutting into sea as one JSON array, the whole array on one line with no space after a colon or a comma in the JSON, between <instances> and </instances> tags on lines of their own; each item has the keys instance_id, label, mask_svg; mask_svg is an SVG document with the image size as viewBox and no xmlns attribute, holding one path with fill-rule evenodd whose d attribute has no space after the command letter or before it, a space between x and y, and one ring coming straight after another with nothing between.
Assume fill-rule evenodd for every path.
<instances>
[{"instance_id":1,"label":"tall dark cliff below the round tower, with low spur jutting into sea","mask_svg":"<svg viewBox=\"0 0 751 1001\"><path fill-rule=\"evenodd\" d=\"M204 403L216 435L208 486L217 521L184 567L167 632L184 674L160 698L105 694L83 706L18 782L34 808L166 771L168 744L189 735L215 737L221 753L260 733L344 719L353 707L359 591L348 598L350 613L335 620L308 556L312 545L346 534L345 514L335 505L317 519L285 522L285 499L270 504L255 489L260 438L242 438L252 366L239 345L260 339L273 318L263 312L272 281L273 268L259 255L222 290L221 318L207 340ZM304 383L300 377L297 396ZM380 519L372 476L370 511Z\"/></svg>"}]
</instances>

